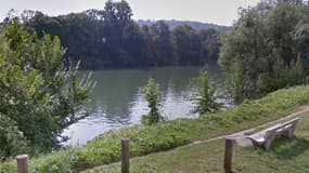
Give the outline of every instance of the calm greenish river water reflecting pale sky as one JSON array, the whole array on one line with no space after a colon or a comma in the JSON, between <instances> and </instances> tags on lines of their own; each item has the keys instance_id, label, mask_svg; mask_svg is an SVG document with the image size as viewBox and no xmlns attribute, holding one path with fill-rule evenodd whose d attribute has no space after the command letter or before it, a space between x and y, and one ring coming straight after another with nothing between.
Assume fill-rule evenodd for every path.
<instances>
[{"instance_id":1,"label":"calm greenish river water reflecting pale sky","mask_svg":"<svg viewBox=\"0 0 309 173\"><path fill-rule=\"evenodd\" d=\"M140 123L141 116L149 110L140 88L146 84L150 77L160 85L159 110L163 116L168 120L198 117L190 112L194 105L190 102L193 91L189 81L198 76L201 68L190 66L93 71L96 85L90 96L90 115L64 131L63 134L70 137L65 145L83 145L108 130ZM208 67L208 74L211 81L220 78L218 66Z\"/></svg>"}]
</instances>

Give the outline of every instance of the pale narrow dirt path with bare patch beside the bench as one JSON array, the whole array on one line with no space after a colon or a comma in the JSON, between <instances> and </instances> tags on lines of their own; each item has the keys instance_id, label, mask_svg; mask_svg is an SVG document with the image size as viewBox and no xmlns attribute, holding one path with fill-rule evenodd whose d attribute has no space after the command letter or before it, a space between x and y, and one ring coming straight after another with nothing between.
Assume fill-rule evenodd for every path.
<instances>
[{"instance_id":1,"label":"pale narrow dirt path with bare patch beside the bench","mask_svg":"<svg viewBox=\"0 0 309 173\"><path fill-rule=\"evenodd\" d=\"M191 144L188 144L185 146L192 146L192 145L196 145L196 144L208 143L208 142L220 139L220 138L224 138L224 137L232 137L232 138L234 138L236 141L237 145L240 145L240 146L249 146L249 145L252 145L252 142L246 138L246 134L253 133L253 132L255 132L257 130L265 129L265 128L273 125L273 124L276 124L276 123L281 122L281 121L285 121L285 120L295 118L295 117L297 117L297 116L299 116L301 114L308 112L308 111L309 111L309 105L300 106L299 108L297 108L295 110L295 112L293 112L291 115L287 115L285 117L282 117L280 119L276 119L274 121L269 121L269 122L260 124L258 127L255 127L255 128L252 128L252 129L247 129L247 130L244 130L244 131L240 131L240 132L236 132L236 133L233 133L233 134L229 134L229 135L221 135L221 136L217 136L217 137L214 137L214 138L195 141L195 142L193 142ZM182 146L182 147L185 147L185 146Z\"/></svg>"}]
</instances>

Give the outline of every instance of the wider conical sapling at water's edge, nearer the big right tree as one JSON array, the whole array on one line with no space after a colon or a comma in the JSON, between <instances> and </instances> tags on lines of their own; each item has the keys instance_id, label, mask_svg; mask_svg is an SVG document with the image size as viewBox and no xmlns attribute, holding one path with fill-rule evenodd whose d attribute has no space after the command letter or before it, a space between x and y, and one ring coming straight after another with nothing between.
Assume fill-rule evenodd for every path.
<instances>
[{"instance_id":1,"label":"wider conical sapling at water's edge, nearer the big right tree","mask_svg":"<svg viewBox=\"0 0 309 173\"><path fill-rule=\"evenodd\" d=\"M215 112L220 109L222 104L217 103L216 91L217 86L209 83L207 69L202 69L199 76L193 79L193 88L197 91L194 93L191 101L196 105L193 112L199 115L206 112Z\"/></svg>"}]
</instances>

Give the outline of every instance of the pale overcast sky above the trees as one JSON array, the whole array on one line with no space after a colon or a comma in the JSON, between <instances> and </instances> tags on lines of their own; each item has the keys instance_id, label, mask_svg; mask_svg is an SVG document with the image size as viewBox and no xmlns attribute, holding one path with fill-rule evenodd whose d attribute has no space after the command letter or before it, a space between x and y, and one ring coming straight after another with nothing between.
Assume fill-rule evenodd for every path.
<instances>
[{"instance_id":1,"label":"pale overcast sky above the trees","mask_svg":"<svg viewBox=\"0 0 309 173\"><path fill-rule=\"evenodd\" d=\"M237 9L256 5L260 0L127 0L136 19L190 19L232 25ZM103 9L106 0L0 0L0 17L9 10L38 10L49 15Z\"/></svg>"}]
</instances>

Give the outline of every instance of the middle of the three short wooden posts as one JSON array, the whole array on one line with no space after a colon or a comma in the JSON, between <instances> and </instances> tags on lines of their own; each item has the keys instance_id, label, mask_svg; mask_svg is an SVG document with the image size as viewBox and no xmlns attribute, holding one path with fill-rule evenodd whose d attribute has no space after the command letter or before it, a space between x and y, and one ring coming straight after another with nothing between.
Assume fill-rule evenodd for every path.
<instances>
[{"instance_id":1,"label":"middle of the three short wooden posts","mask_svg":"<svg viewBox=\"0 0 309 173\"><path fill-rule=\"evenodd\" d=\"M130 139L121 139L121 173L130 172Z\"/></svg>"}]
</instances>

